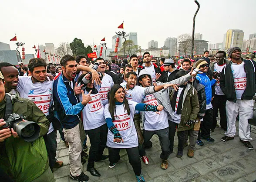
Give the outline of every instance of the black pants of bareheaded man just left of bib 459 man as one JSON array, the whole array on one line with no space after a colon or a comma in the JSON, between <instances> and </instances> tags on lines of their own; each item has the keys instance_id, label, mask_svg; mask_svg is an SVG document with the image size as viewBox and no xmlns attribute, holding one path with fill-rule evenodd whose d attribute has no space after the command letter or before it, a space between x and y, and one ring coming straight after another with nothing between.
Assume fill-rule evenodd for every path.
<instances>
[{"instance_id":1,"label":"black pants of bareheaded man just left of bib 459 man","mask_svg":"<svg viewBox=\"0 0 256 182\"><path fill-rule=\"evenodd\" d=\"M226 116L226 95L215 95L212 100L212 107L213 107L213 122L212 122L212 129L216 128L219 110L220 116L220 127L222 127L225 131L227 130L227 116Z\"/></svg>"}]
</instances>

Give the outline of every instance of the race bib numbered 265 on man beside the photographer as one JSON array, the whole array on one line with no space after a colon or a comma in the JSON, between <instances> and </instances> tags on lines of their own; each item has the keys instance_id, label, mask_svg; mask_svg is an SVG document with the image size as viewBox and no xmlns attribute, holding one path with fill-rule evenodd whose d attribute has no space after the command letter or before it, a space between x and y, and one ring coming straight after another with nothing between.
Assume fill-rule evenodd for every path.
<instances>
[{"instance_id":1,"label":"race bib numbered 265 on man beside the photographer","mask_svg":"<svg viewBox=\"0 0 256 182\"><path fill-rule=\"evenodd\" d=\"M49 114L52 94L48 95L29 95L28 98L33 101L37 107L45 114Z\"/></svg>"}]
</instances>

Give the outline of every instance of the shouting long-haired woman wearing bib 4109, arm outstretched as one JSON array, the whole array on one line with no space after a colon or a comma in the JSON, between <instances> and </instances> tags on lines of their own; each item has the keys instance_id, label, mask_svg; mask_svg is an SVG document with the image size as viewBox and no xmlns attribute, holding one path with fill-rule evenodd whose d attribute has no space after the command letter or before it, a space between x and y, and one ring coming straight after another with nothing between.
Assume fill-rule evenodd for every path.
<instances>
[{"instance_id":1,"label":"shouting long-haired woman wearing bib 4109, arm outstretched","mask_svg":"<svg viewBox=\"0 0 256 182\"><path fill-rule=\"evenodd\" d=\"M136 110L158 112L162 105L138 104L125 98L125 90L115 84L108 93L109 103L104 108L105 120L109 129L107 146L109 168L115 167L120 159L120 149L126 149L129 162L138 182L145 182L141 175L141 160L138 152L138 135L133 123Z\"/></svg>"}]
</instances>

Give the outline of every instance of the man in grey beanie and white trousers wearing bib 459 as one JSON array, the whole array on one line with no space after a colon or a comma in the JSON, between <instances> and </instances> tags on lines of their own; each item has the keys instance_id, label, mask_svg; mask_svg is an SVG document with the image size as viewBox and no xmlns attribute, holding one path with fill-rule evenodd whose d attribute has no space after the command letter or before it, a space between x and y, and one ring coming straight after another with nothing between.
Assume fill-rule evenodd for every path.
<instances>
[{"instance_id":1,"label":"man in grey beanie and white trousers wearing bib 459","mask_svg":"<svg viewBox=\"0 0 256 182\"><path fill-rule=\"evenodd\" d=\"M242 58L239 47L228 50L231 62L226 65L220 75L220 88L227 97L227 132L222 141L233 140L236 135L236 116L239 114L240 141L249 149L253 149L250 137L251 126L248 119L253 117L253 96L256 91L256 62Z\"/></svg>"}]
</instances>

